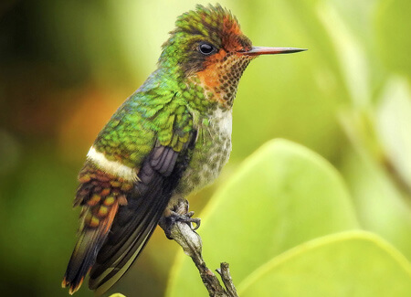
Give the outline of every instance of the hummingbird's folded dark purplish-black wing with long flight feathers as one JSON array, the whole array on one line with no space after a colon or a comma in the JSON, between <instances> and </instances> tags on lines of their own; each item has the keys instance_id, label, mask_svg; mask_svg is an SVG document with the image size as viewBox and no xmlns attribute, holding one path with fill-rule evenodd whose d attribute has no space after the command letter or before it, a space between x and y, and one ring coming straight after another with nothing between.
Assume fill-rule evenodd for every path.
<instances>
[{"instance_id":1,"label":"hummingbird's folded dark purplish-black wing with long flight feathers","mask_svg":"<svg viewBox=\"0 0 411 297\"><path fill-rule=\"evenodd\" d=\"M189 162L195 135L184 154L159 145L144 160L128 204L119 207L111 232L90 271L89 287L102 293L118 281L138 257L163 215L174 188Z\"/></svg>"}]
</instances>

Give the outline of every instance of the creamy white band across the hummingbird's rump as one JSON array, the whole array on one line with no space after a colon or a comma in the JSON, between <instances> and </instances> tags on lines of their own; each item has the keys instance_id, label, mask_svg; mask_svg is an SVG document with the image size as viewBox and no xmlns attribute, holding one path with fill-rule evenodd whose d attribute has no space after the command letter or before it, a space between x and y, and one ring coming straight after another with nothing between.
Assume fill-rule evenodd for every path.
<instances>
[{"instance_id":1,"label":"creamy white band across the hummingbird's rump","mask_svg":"<svg viewBox=\"0 0 411 297\"><path fill-rule=\"evenodd\" d=\"M133 168L121 164L118 161L107 160L105 155L97 152L93 146L90 147L90 151L87 154L87 158L90 161L92 161L97 167L107 172L108 174L116 175L128 181L137 180L137 173Z\"/></svg>"}]
</instances>

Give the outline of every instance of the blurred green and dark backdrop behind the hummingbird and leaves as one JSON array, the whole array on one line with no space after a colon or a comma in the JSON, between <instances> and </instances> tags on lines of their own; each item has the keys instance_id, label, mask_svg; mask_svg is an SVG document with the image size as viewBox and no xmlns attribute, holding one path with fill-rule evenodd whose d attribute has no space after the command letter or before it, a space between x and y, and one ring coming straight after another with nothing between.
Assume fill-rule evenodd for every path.
<instances>
[{"instance_id":1,"label":"blurred green and dark backdrop behind the hummingbird and leaves","mask_svg":"<svg viewBox=\"0 0 411 297\"><path fill-rule=\"evenodd\" d=\"M79 209L71 204L84 157L112 112L155 69L175 17L196 3L208 1L1 2L3 294L68 294L60 281L76 240ZM190 197L192 210L198 214L262 143L286 138L330 161L361 226L410 260L411 2L220 3L254 45L309 51L258 58L248 67L234 108L230 162L214 186ZM112 292L163 295L177 252L156 230Z\"/></svg>"}]
</instances>

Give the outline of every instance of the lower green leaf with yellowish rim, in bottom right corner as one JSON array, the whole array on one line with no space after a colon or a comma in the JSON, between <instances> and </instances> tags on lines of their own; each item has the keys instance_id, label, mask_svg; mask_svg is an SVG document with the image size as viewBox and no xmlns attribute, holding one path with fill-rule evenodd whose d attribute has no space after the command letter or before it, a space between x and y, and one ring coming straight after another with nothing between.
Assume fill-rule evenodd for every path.
<instances>
[{"instance_id":1,"label":"lower green leaf with yellowish rim, in bottom right corner","mask_svg":"<svg viewBox=\"0 0 411 297\"><path fill-rule=\"evenodd\" d=\"M247 296L411 296L411 265L363 231L314 239L270 260L238 286Z\"/></svg>"}]
</instances>

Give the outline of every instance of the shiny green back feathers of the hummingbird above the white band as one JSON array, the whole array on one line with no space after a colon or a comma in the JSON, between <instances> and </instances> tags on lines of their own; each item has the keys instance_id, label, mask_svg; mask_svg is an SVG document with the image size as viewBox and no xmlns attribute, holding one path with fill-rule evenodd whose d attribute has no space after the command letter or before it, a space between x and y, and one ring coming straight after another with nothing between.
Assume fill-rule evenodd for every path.
<instances>
[{"instance_id":1,"label":"shiny green back feathers of the hummingbird above the white band","mask_svg":"<svg viewBox=\"0 0 411 297\"><path fill-rule=\"evenodd\" d=\"M162 78L154 73L100 132L94 147L107 159L135 167L157 142L182 150L193 121L178 84L161 82Z\"/></svg>"}]
</instances>

